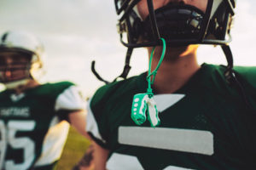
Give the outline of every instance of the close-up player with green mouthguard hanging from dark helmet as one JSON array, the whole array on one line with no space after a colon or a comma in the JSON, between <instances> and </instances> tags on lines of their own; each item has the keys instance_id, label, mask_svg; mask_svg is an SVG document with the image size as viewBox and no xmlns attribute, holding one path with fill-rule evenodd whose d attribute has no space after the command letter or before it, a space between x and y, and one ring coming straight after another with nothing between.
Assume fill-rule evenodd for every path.
<instances>
[{"instance_id":1,"label":"close-up player with green mouthguard hanging from dark helmet","mask_svg":"<svg viewBox=\"0 0 256 170\"><path fill-rule=\"evenodd\" d=\"M229 47L236 0L114 3L128 48L120 77L133 48L148 48L154 71L90 99L96 170L256 169L256 68L233 67ZM220 45L228 65L199 65L198 44Z\"/></svg>"}]
</instances>

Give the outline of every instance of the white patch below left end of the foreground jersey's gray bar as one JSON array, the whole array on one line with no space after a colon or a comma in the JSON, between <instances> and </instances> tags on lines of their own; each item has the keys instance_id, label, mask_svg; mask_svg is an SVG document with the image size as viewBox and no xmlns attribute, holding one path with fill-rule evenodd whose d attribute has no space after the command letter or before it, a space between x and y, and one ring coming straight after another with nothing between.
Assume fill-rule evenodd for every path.
<instances>
[{"instance_id":1,"label":"white patch below left end of the foreground jersey's gray bar","mask_svg":"<svg viewBox=\"0 0 256 170\"><path fill-rule=\"evenodd\" d=\"M107 161L108 170L143 170L136 156L113 153Z\"/></svg>"}]
</instances>

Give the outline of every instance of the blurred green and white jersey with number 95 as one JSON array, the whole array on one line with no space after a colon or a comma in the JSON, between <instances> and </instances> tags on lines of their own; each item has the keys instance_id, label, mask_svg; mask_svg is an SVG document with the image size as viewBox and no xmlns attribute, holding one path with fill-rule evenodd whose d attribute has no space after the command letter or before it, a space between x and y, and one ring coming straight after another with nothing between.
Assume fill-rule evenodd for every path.
<instances>
[{"instance_id":1,"label":"blurred green and white jersey with number 95","mask_svg":"<svg viewBox=\"0 0 256 170\"><path fill-rule=\"evenodd\" d=\"M52 169L67 139L63 120L81 109L84 101L72 82L0 93L0 169Z\"/></svg>"}]
</instances>

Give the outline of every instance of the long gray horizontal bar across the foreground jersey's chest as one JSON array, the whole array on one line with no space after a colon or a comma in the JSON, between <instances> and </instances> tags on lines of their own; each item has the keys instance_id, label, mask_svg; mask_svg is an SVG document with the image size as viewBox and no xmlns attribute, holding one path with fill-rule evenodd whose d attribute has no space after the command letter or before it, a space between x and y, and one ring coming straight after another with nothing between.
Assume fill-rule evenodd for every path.
<instances>
[{"instance_id":1,"label":"long gray horizontal bar across the foreground jersey's chest","mask_svg":"<svg viewBox=\"0 0 256 170\"><path fill-rule=\"evenodd\" d=\"M213 135L209 131L165 127L119 127L119 143L211 156Z\"/></svg>"}]
</instances>

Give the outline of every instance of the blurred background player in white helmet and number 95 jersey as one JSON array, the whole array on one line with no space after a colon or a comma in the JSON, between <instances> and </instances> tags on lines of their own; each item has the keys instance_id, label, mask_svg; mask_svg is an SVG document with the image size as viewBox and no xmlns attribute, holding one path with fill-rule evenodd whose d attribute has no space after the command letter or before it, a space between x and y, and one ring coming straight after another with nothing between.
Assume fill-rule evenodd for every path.
<instances>
[{"instance_id":1,"label":"blurred background player in white helmet and number 95 jersey","mask_svg":"<svg viewBox=\"0 0 256 170\"><path fill-rule=\"evenodd\" d=\"M44 48L32 34L8 31L0 41L0 169L53 169L69 123L88 137L84 99L72 82L38 82Z\"/></svg>"}]
</instances>

